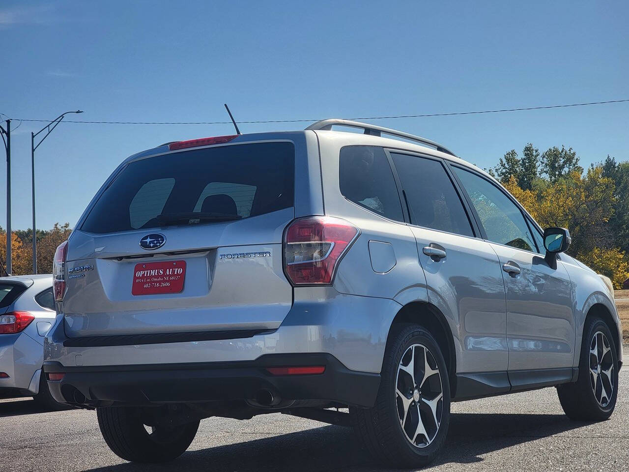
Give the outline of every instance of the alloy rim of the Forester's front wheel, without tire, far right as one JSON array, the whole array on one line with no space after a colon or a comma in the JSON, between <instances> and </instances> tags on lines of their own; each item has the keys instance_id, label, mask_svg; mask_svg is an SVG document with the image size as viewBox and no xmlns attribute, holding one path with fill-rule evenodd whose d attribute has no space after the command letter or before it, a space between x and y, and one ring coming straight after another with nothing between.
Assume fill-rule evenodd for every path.
<instances>
[{"instance_id":1,"label":"alloy rim of the Forester's front wheel, without tire, far right","mask_svg":"<svg viewBox=\"0 0 629 472\"><path fill-rule=\"evenodd\" d=\"M590 342L589 375L594 398L601 407L607 407L616 386L610 340L602 331L595 332Z\"/></svg>"}]
</instances>

